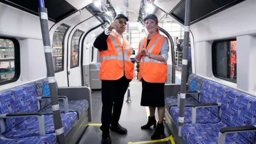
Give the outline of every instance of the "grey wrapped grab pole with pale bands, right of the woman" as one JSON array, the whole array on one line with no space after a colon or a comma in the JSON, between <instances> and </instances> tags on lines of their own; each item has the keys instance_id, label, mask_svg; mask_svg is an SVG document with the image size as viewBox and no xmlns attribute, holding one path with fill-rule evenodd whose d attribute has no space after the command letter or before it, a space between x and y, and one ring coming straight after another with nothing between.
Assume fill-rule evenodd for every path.
<instances>
[{"instance_id":1,"label":"grey wrapped grab pole with pale bands, right of the woman","mask_svg":"<svg viewBox=\"0 0 256 144\"><path fill-rule=\"evenodd\" d=\"M184 124L184 110L185 110L186 87L187 87L186 84L187 84L187 65L188 65L188 42L189 42L189 30L190 30L190 5L191 5L191 0L186 0L184 43L183 43L182 71L181 71L180 108L179 108L179 137L181 137L181 128Z\"/></svg>"}]
</instances>

